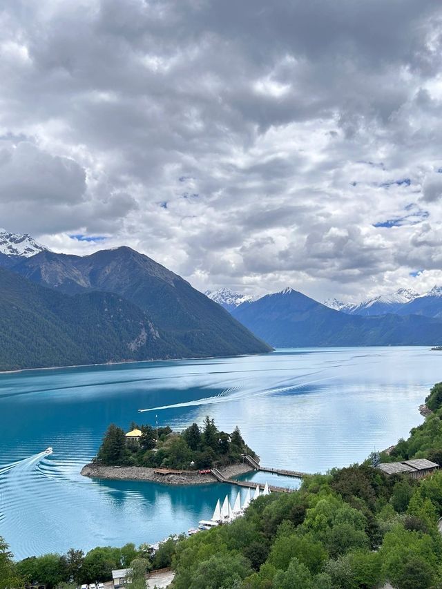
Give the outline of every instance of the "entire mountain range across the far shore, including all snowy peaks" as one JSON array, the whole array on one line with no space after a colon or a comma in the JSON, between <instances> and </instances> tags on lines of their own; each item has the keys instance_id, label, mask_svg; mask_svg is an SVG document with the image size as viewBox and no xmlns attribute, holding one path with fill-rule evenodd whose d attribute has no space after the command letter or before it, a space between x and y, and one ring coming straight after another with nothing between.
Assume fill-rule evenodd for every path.
<instances>
[{"instance_id":1,"label":"entire mountain range across the far shore, including all snowy peaks","mask_svg":"<svg viewBox=\"0 0 442 589\"><path fill-rule=\"evenodd\" d=\"M0 235L3 370L442 342L441 287L425 295L399 289L359 305L323 305L291 288L261 298L203 294L129 247L68 255L30 235Z\"/></svg>"}]
</instances>

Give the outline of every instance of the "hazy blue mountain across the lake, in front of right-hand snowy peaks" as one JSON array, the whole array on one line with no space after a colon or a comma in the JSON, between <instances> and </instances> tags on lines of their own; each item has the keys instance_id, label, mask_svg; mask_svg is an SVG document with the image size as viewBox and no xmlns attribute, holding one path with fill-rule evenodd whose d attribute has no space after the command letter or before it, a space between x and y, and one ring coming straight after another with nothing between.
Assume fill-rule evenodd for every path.
<instances>
[{"instance_id":1,"label":"hazy blue mountain across the lake, in front of right-hand snowy peaks","mask_svg":"<svg viewBox=\"0 0 442 589\"><path fill-rule=\"evenodd\" d=\"M421 315L349 315L294 289L244 302L233 316L274 347L435 345L442 321Z\"/></svg>"}]
</instances>

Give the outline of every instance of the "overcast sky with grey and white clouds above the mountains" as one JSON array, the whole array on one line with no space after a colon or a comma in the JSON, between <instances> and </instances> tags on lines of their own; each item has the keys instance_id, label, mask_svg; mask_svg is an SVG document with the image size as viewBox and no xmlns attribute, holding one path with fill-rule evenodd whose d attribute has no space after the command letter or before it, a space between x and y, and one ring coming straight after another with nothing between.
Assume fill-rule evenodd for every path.
<instances>
[{"instance_id":1,"label":"overcast sky with grey and white clouds above the mountains","mask_svg":"<svg viewBox=\"0 0 442 589\"><path fill-rule=\"evenodd\" d=\"M440 0L3 0L0 226L198 289L442 284Z\"/></svg>"}]
</instances>

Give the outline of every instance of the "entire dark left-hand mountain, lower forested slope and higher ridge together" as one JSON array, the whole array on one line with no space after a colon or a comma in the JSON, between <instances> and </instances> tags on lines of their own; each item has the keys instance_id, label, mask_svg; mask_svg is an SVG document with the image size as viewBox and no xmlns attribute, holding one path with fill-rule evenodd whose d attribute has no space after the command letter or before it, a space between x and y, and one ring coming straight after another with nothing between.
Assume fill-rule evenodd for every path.
<instances>
[{"instance_id":1,"label":"entire dark left-hand mountain, lower forested slope and higher ridge together","mask_svg":"<svg viewBox=\"0 0 442 589\"><path fill-rule=\"evenodd\" d=\"M3 253L0 265L2 369L271 351L189 282L128 247Z\"/></svg>"}]
</instances>

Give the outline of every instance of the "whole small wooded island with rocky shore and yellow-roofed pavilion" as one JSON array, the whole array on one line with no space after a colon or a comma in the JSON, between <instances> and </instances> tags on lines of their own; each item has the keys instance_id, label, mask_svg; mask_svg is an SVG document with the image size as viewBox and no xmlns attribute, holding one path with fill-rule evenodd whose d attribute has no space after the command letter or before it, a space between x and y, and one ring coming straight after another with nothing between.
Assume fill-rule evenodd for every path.
<instances>
[{"instance_id":1,"label":"whole small wooded island with rocky shore and yellow-roofed pavilion","mask_svg":"<svg viewBox=\"0 0 442 589\"><path fill-rule=\"evenodd\" d=\"M132 423L125 433L112 423L97 456L81 474L99 479L198 485L216 482L211 474L214 467L227 479L253 470L243 462L244 454L258 458L238 427L231 434L222 432L209 416L202 428L193 423L183 432L173 432L169 426L153 428Z\"/></svg>"}]
</instances>

